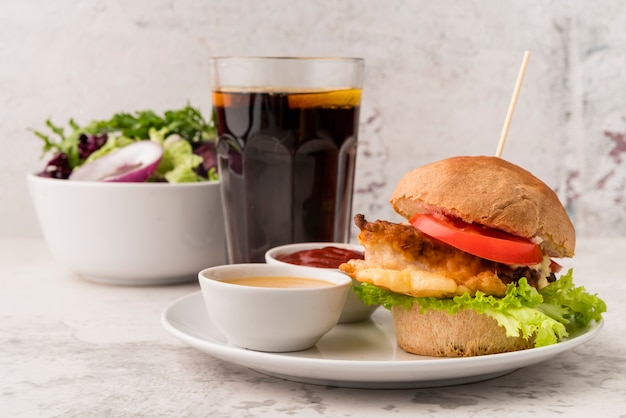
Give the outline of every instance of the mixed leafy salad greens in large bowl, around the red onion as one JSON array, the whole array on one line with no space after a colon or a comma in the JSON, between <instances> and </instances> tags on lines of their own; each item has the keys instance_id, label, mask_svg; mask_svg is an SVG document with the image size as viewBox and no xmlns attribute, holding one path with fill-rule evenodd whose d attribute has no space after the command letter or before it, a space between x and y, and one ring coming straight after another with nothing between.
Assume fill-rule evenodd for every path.
<instances>
[{"instance_id":1,"label":"mixed leafy salad greens in large bowl, around the red onion","mask_svg":"<svg viewBox=\"0 0 626 418\"><path fill-rule=\"evenodd\" d=\"M155 141L163 157L148 178L149 182L186 183L217 180L215 124L187 105L158 115L152 110L116 113L110 119L94 120L85 126L70 119L71 131L50 119L51 133L34 131L44 141L43 156L52 154L43 177L69 178L72 171L112 151L137 141Z\"/></svg>"}]
</instances>

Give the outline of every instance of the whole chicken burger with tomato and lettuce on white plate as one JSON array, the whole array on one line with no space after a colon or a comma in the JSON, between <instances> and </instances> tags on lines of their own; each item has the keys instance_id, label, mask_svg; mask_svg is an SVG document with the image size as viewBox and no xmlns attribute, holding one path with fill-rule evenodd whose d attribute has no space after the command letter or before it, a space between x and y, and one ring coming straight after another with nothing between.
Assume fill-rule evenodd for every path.
<instances>
[{"instance_id":1,"label":"whole chicken burger with tomato and lettuce on white plate","mask_svg":"<svg viewBox=\"0 0 626 418\"><path fill-rule=\"evenodd\" d=\"M406 352L466 357L545 346L599 321L606 305L560 275L574 226L550 187L498 157L419 167L390 200L406 222L360 229L363 260L339 268L366 304L391 311Z\"/></svg>"}]
</instances>

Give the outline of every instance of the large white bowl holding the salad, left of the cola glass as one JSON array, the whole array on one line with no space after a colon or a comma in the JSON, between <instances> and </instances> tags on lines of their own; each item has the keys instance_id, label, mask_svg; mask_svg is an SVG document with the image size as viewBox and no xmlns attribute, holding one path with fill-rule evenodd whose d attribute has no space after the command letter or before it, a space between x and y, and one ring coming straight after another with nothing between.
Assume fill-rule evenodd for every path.
<instances>
[{"instance_id":1,"label":"large white bowl holding the salad, left of the cola glass","mask_svg":"<svg viewBox=\"0 0 626 418\"><path fill-rule=\"evenodd\" d=\"M50 252L88 280L192 281L226 260L218 181L108 183L30 174L27 182Z\"/></svg>"}]
</instances>

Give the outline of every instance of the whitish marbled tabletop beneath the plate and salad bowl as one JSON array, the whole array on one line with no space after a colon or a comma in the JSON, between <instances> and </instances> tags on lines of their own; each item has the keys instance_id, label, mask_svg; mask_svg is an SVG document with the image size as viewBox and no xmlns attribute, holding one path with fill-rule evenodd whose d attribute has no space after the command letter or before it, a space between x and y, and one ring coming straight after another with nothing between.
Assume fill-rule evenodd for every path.
<instances>
[{"instance_id":1,"label":"whitish marbled tabletop beneath the plate and salad bowl","mask_svg":"<svg viewBox=\"0 0 626 418\"><path fill-rule=\"evenodd\" d=\"M160 316L196 283L95 284L42 240L0 239L0 415L625 417L626 238L581 238L563 264L608 305L586 344L478 383L351 389L269 377L179 341Z\"/></svg>"}]
</instances>

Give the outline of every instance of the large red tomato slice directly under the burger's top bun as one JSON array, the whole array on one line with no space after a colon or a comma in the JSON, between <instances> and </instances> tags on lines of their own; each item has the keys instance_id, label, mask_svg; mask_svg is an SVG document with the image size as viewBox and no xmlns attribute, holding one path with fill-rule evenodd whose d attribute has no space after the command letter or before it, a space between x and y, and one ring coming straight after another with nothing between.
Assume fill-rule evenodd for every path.
<instances>
[{"instance_id":1,"label":"large red tomato slice directly under the burger's top bun","mask_svg":"<svg viewBox=\"0 0 626 418\"><path fill-rule=\"evenodd\" d=\"M497 229L426 214L414 215L410 223L428 236L487 260L526 266L543 260L539 245Z\"/></svg>"}]
</instances>

